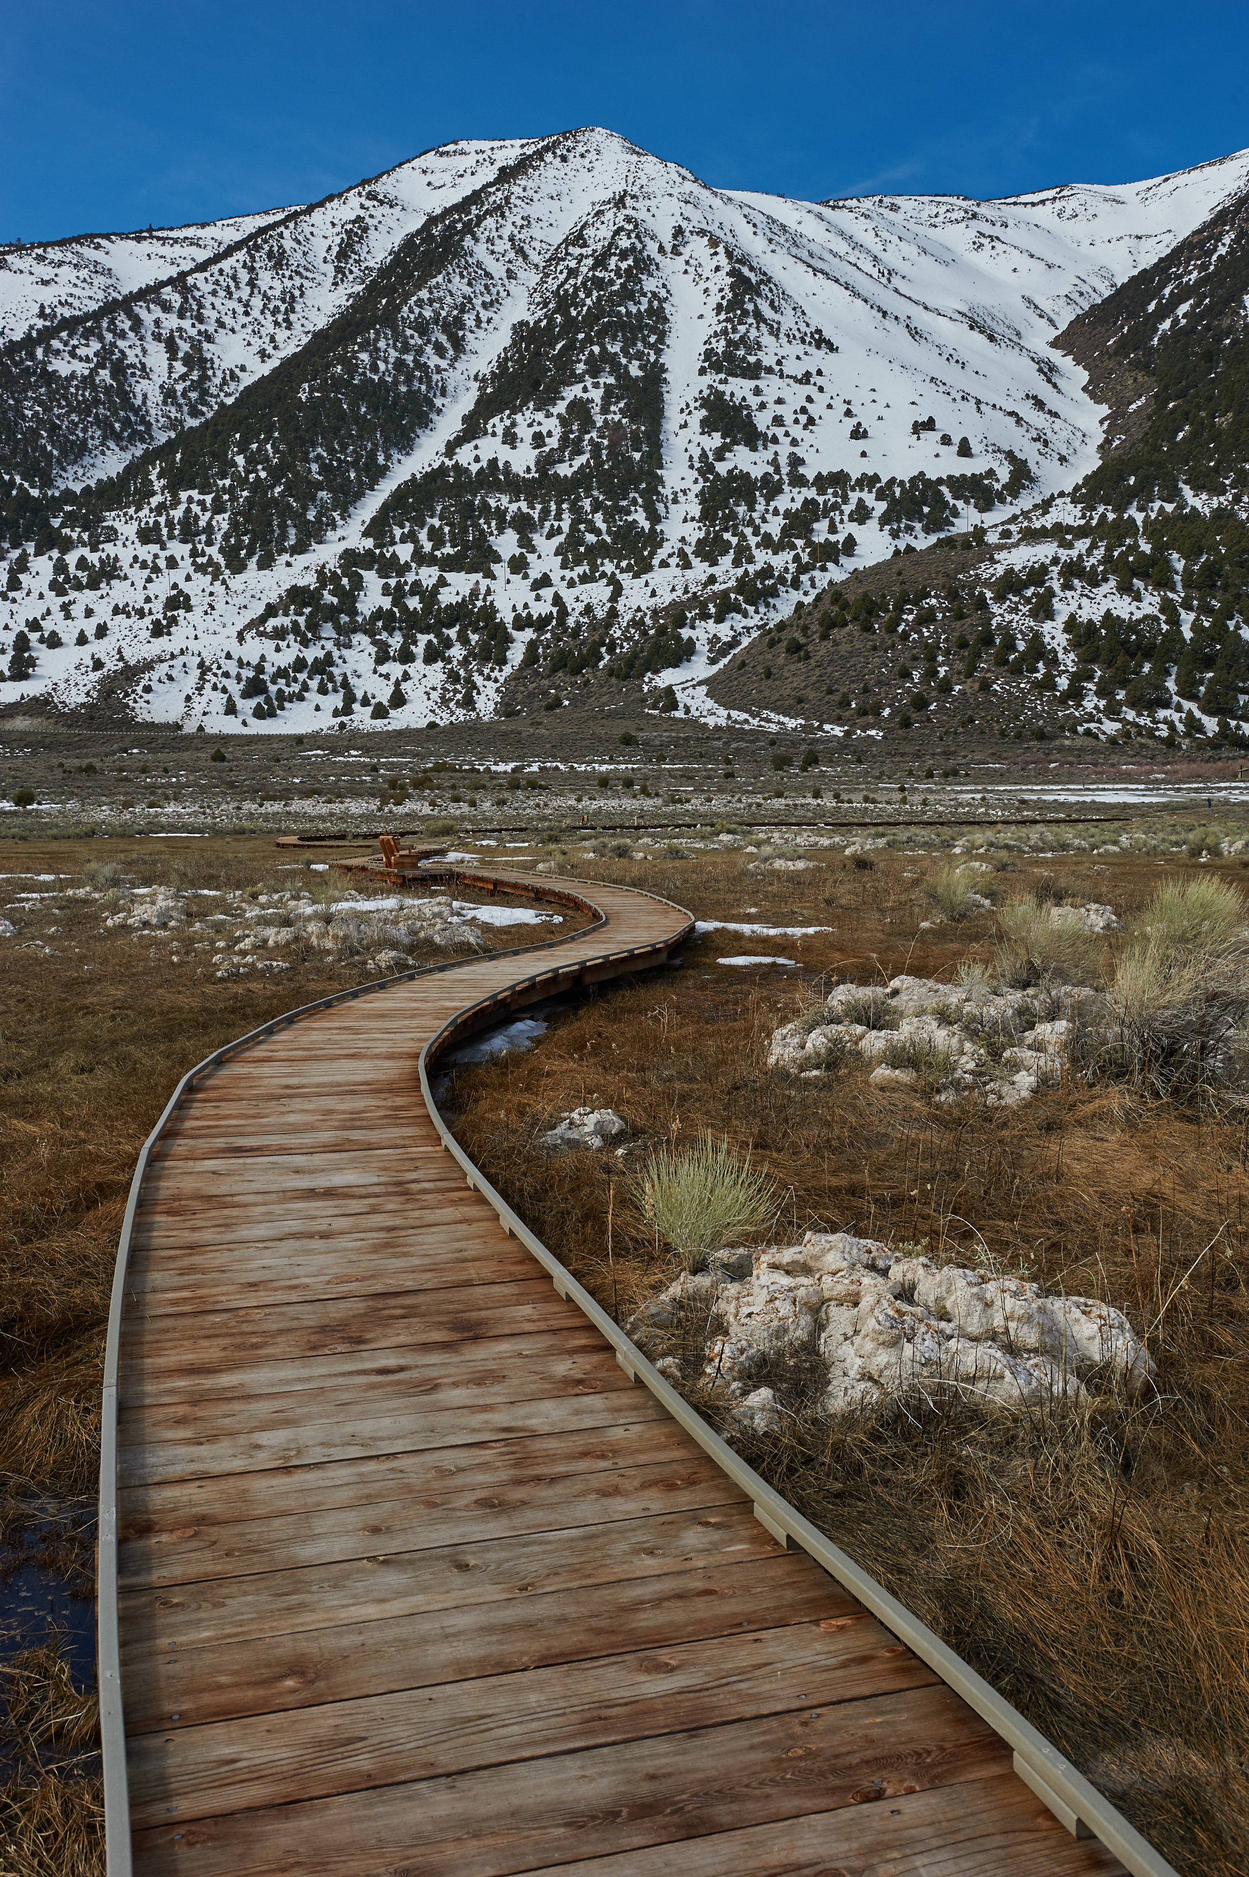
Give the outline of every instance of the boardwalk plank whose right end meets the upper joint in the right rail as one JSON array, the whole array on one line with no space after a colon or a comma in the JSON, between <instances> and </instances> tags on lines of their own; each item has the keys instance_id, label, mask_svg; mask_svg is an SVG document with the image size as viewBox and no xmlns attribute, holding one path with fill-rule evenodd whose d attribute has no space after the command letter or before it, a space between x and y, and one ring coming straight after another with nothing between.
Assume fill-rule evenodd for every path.
<instances>
[{"instance_id":1,"label":"boardwalk plank whose right end meets the upper joint in the right rail","mask_svg":"<svg viewBox=\"0 0 1249 1877\"><path fill-rule=\"evenodd\" d=\"M317 1505L293 1513L208 1526L175 1526L158 1539L122 1547L124 1584L180 1584L205 1577L248 1575L282 1565L331 1564L385 1556L421 1545L466 1545L520 1532L580 1530L657 1511L704 1511L740 1505L740 1492L719 1468L695 1455L667 1464L616 1468L605 1473L562 1473L528 1487L481 1488L378 1498L362 1507Z\"/></svg>"}]
</instances>

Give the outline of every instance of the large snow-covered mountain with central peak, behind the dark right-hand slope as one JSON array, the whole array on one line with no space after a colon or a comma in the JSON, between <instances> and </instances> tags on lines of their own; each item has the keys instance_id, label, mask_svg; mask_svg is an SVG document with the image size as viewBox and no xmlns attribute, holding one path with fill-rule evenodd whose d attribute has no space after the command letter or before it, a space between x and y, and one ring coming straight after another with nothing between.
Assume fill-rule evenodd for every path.
<instances>
[{"instance_id":1,"label":"large snow-covered mountain with central peak, behind the dark right-hand slope","mask_svg":"<svg viewBox=\"0 0 1249 1877\"><path fill-rule=\"evenodd\" d=\"M813 205L584 130L4 250L0 702L319 730L612 672L712 710L798 593L1087 473L1050 342L1247 186Z\"/></svg>"}]
</instances>

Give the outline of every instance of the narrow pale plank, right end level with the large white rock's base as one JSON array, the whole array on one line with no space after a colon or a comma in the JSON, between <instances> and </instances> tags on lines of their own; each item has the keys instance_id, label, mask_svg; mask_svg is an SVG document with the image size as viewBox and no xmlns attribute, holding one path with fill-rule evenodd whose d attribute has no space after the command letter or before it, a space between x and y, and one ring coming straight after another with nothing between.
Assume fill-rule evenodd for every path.
<instances>
[{"instance_id":1,"label":"narrow pale plank, right end level with the large white rock's base","mask_svg":"<svg viewBox=\"0 0 1249 1877\"><path fill-rule=\"evenodd\" d=\"M618 1370L620 1374L620 1370ZM517 1385L520 1387L520 1383ZM207 1479L212 1473L255 1473L274 1466L317 1466L325 1460L362 1460L374 1453L411 1453L421 1447L473 1445L505 1434L543 1434L547 1428L601 1427L616 1417L616 1398L629 1395L629 1413L646 1419L646 1406L633 1398L633 1385L620 1374L620 1387L592 1389L464 1408L408 1408L344 1427L327 1421L308 1428L254 1428L233 1440L162 1442L158 1447L122 1447L118 1483L139 1479ZM663 1408L655 1402L655 1419Z\"/></svg>"}]
</instances>

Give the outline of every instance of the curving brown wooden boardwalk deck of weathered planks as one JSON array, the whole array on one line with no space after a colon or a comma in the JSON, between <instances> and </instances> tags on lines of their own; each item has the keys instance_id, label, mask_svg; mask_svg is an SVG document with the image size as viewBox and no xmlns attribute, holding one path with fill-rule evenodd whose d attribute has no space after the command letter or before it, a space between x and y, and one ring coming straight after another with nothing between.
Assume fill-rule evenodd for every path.
<instances>
[{"instance_id":1,"label":"curving brown wooden boardwalk deck of weathered planks","mask_svg":"<svg viewBox=\"0 0 1249 1877\"><path fill-rule=\"evenodd\" d=\"M443 1152L417 1059L455 1012L684 925L594 899L558 952L302 1017L165 1128L118 1372L135 1871L1119 1871Z\"/></svg>"}]
</instances>

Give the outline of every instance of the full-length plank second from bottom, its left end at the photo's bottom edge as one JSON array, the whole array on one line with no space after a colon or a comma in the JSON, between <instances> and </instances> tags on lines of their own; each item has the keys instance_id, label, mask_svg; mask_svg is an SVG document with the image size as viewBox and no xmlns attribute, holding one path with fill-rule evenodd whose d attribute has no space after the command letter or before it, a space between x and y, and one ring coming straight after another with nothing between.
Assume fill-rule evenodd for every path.
<instances>
[{"instance_id":1,"label":"full-length plank second from bottom, its left end at the photo's bottom edge","mask_svg":"<svg viewBox=\"0 0 1249 1877\"><path fill-rule=\"evenodd\" d=\"M135 1871L182 1832L197 1877L501 1877L697 1832L836 1811L1003 1770L1007 1747L945 1687L667 1732L582 1753L370 1793L163 1823L135 1834ZM877 1785L879 1781L879 1785ZM177 1804L177 1798L171 1800Z\"/></svg>"}]
</instances>

